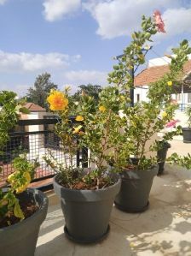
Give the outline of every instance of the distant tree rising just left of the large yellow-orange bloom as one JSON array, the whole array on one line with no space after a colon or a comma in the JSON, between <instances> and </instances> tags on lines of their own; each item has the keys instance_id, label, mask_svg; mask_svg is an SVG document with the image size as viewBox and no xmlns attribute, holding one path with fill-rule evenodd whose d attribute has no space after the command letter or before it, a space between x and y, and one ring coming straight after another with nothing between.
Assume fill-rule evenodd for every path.
<instances>
[{"instance_id":1,"label":"distant tree rising just left of the large yellow-orange bloom","mask_svg":"<svg viewBox=\"0 0 191 256\"><path fill-rule=\"evenodd\" d=\"M56 90L58 87L50 80L50 77L51 75L49 73L38 75L34 82L34 86L28 89L28 93L26 94L27 102L38 104L48 110L46 98L49 95L51 89Z\"/></svg>"}]
</instances>

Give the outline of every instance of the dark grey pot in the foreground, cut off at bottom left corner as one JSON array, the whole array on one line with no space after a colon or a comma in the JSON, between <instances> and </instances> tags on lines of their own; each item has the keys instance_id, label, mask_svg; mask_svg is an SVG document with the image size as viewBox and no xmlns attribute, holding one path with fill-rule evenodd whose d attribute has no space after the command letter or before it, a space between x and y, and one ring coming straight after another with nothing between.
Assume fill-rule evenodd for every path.
<instances>
[{"instance_id":1,"label":"dark grey pot in the foreground, cut off at bottom left corner","mask_svg":"<svg viewBox=\"0 0 191 256\"><path fill-rule=\"evenodd\" d=\"M34 256L41 223L46 217L48 198L33 188L21 193L20 200L30 200L39 205L39 210L20 223L0 229L0 255L2 256Z\"/></svg>"}]
</instances>

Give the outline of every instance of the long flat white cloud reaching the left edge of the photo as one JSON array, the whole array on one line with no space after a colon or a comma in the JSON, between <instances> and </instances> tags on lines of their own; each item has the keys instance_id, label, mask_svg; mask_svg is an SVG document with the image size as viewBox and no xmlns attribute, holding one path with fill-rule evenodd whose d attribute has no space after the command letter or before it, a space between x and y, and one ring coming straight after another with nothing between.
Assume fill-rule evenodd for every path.
<instances>
[{"instance_id":1,"label":"long flat white cloud reaching the left edge of the photo","mask_svg":"<svg viewBox=\"0 0 191 256\"><path fill-rule=\"evenodd\" d=\"M79 55L70 57L58 52L32 54L0 51L0 72L33 72L49 68L66 68L70 63L77 62L79 58Z\"/></svg>"}]
</instances>

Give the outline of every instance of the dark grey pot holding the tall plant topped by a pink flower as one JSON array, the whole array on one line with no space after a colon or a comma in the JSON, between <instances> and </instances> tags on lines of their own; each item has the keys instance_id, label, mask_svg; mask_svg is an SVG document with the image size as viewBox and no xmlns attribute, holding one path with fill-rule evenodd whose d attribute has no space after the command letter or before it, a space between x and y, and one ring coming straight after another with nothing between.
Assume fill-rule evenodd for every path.
<instances>
[{"instance_id":1,"label":"dark grey pot holding the tall plant topped by a pink flower","mask_svg":"<svg viewBox=\"0 0 191 256\"><path fill-rule=\"evenodd\" d=\"M153 177L157 173L157 165L150 170L125 170L121 174L121 188L115 198L116 207L127 212L148 209L148 197L153 184Z\"/></svg>"}]
</instances>

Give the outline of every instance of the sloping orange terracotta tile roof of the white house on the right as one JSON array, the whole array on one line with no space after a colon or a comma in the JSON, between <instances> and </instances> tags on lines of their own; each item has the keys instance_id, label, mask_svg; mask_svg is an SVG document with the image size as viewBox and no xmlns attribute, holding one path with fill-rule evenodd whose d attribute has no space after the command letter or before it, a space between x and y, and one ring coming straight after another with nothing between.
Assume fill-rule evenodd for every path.
<instances>
[{"instance_id":1,"label":"sloping orange terracotta tile roof of the white house on the right","mask_svg":"<svg viewBox=\"0 0 191 256\"><path fill-rule=\"evenodd\" d=\"M164 74L168 73L169 66L155 66L143 69L142 72L136 75L135 86L146 86L149 83L159 80ZM191 71L191 60L189 60L183 68L184 73Z\"/></svg>"}]
</instances>

